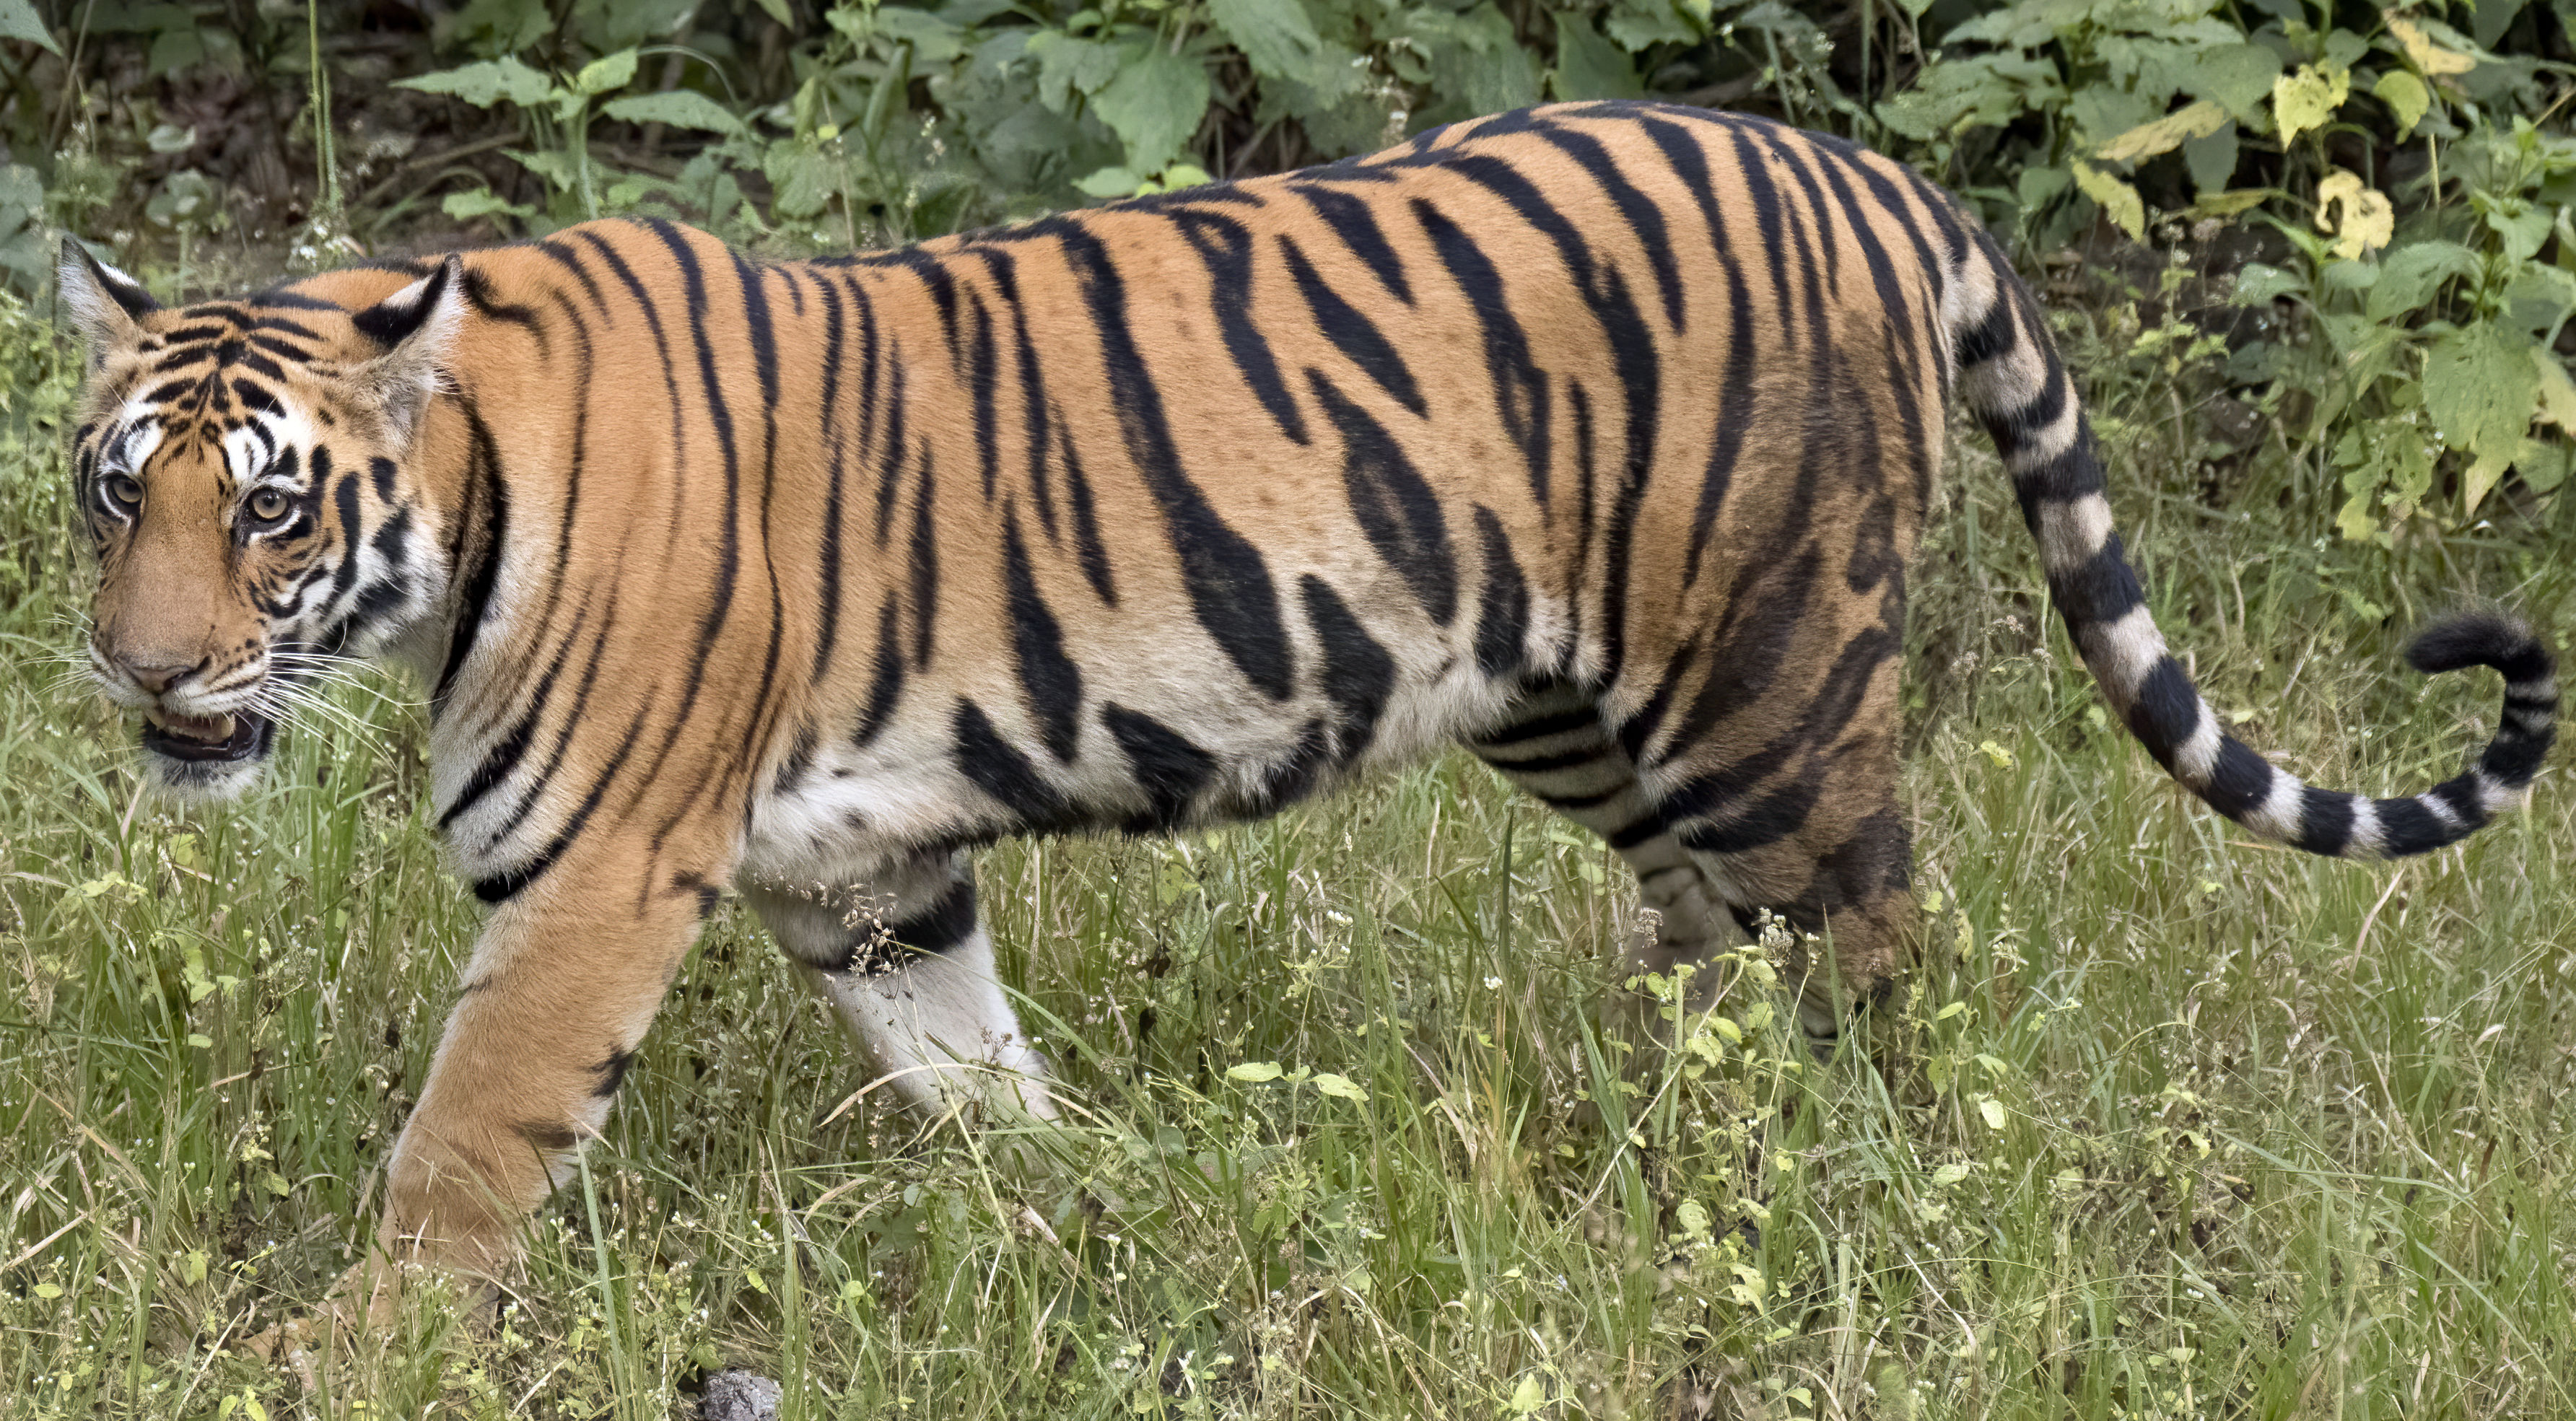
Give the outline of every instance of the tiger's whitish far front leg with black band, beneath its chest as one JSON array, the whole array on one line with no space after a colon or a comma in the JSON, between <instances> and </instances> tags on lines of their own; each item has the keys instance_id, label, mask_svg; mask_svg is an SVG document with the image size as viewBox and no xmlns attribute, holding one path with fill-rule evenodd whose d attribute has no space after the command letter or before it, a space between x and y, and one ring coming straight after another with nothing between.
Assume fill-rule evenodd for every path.
<instances>
[{"instance_id":1,"label":"tiger's whitish far front leg with black band, beneath its chest","mask_svg":"<svg viewBox=\"0 0 2576 1421\"><path fill-rule=\"evenodd\" d=\"M860 883L750 883L744 896L914 1112L1056 1117L1046 1061L994 978L963 852L922 852Z\"/></svg>"}]
</instances>

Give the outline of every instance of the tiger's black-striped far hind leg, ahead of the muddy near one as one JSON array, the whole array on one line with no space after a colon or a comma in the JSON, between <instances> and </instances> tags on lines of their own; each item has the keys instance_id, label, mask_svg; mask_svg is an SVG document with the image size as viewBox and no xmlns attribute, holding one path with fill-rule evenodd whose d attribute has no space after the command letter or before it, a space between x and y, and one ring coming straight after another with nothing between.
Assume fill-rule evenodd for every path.
<instances>
[{"instance_id":1,"label":"tiger's black-striped far hind leg, ahead of the muddy near one","mask_svg":"<svg viewBox=\"0 0 2576 1421\"><path fill-rule=\"evenodd\" d=\"M1623 981L1698 965L1747 942L1721 880L1649 803L1636 759L1602 726L1589 692L1571 682L1533 687L1512 703L1502 726L1468 739L1468 749L1512 785L1600 834L1636 873L1638 898L1662 922L1651 945L1628 950ZM1713 978L1703 976L1690 1007L1708 1007L1713 989Z\"/></svg>"}]
</instances>

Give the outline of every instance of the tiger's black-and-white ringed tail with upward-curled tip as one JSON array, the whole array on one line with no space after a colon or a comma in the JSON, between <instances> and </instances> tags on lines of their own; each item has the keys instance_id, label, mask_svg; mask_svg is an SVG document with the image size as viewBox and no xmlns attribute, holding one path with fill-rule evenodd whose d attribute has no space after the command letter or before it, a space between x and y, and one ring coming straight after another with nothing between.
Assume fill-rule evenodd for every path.
<instances>
[{"instance_id":1,"label":"tiger's black-and-white ringed tail with upward-curled tip","mask_svg":"<svg viewBox=\"0 0 2576 1421\"><path fill-rule=\"evenodd\" d=\"M2442 620L2406 649L2419 672L2504 672L2504 716L2486 752L2419 795L2303 785L2226 734L2146 610L2102 497L2092 430L2038 299L2002 250L1976 234L1942 306L1960 396L2004 456L2022 520L2040 541L2048 595L2102 695L2174 780L2264 839L2331 857L2439 850L2524 801L2558 734L2558 674L2550 649L2504 615Z\"/></svg>"}]
</instances>

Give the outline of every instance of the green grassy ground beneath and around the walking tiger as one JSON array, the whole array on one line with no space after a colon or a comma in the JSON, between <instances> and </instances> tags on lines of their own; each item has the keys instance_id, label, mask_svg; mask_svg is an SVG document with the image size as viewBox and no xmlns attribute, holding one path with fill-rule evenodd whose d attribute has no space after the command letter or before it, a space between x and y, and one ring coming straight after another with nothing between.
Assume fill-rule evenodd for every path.
<instances>
[{"instance_id":1,"label":"green grassy ground beneath and around the walking tiger","mask_svg":"<svg viewBox=\"0 0 2576 1421\"><path fill-rule=\"evenodd\" d=\"M417 692L299 726L240 808L137 801L54 659L67 373L0 337L36 350L0 435L0 1418L670 1416L719 1364L791 1416L2576 1416L2576 795L2393 870L2239 842L2105 729L1986 456L1919 564L1886 1079L1801 1061L1757 981L1625 1058L1615 860L1453 757L987 860L1079 1104L1054 1184L837 1110L853 1055L726 909L505 1331L422 1310L307 1393L227 1344L343 1267L474 929ZM2396 672L2442 602L2576 628L2563 535L2324 543L2282 458L2228 507L2287 512L2205 510L2133 389L2156 610L2300 775L2416 788L2483 739L2491 677Z\"/></svg>"}]
</instances>

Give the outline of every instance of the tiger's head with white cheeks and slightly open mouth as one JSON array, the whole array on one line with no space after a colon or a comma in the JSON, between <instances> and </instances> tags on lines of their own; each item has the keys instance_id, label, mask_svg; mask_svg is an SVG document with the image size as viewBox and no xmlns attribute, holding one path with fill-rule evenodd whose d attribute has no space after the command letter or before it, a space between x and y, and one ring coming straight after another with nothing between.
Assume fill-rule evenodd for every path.
<instances>
[{"instance_id":1,"label":"tiger's head with white cheeks and slightly open mouth","mask_svg":"<svg viewBox=\"0 0 2576 1421\"><path fill-rule=\"evenodd\" d=\"M464 286L446 257L355 306L278 288L162 309L64 245L62 301L90 353L72 435L98 546L90 672L142 711L162 788L242 793L299 695L440 605L417 461Z\"/></svg>"}]
</instances>

